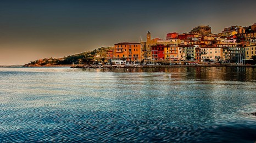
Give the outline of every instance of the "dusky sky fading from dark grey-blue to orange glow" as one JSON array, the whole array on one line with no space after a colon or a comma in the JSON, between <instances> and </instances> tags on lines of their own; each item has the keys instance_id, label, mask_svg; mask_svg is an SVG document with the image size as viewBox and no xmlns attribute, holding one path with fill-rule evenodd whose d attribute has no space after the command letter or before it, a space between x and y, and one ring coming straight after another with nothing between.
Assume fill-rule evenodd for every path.
<instances>
[{"instance_id":1,"label":"dusky sky fading from dark grey-blue to orange glow","mask_svg":"<svg viewBox=\"0 0 256 143\"><path fill-rule=\"evenodd\" d=\"M209 25L256 23L256 1L1 0L0 65L60 58L120 42L166 37Z\"/></svg>"}]
</instances>

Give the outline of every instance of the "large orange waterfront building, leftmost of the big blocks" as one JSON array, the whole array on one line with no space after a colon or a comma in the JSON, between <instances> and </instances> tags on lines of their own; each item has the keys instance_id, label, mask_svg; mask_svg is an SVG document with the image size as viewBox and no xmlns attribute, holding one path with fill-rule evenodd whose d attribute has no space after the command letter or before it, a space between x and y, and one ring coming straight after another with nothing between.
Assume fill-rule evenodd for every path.
<instances>
[{"instance_id":1,"label":"large orange waterfront building, leftmost of the big blocks","mask_svg":"<svg viewBox=\"0 0 256 143\"><path fill-rule=\"evenodd\" d=\"M140 43L118 43L115 44L114 58L125 59L128 64L141 62L141 44Z\"/></svg>"}]
</instances>

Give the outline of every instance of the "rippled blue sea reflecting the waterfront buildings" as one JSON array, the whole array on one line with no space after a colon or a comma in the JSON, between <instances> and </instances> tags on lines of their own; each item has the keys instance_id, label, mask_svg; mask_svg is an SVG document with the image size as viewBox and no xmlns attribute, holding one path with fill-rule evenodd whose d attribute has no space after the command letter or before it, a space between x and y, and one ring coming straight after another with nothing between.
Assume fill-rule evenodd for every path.
<instances>
[{"instance_id":1,"label":"rippled blue sea reflecting the waterfront buildings","mask_svg":"<svg viewBox=\"0 0 256 143\"><path fill-rule=\"evenodd\" d=\"M0 82L0 142L256 141L256 68L2 67Z\"/></svg>"}]
</instances>

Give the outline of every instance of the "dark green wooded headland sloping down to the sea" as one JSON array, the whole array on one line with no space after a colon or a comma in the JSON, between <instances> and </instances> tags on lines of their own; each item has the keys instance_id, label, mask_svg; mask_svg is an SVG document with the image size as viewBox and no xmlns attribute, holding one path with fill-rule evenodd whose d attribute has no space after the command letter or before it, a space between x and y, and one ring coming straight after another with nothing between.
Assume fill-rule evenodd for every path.
<instances>
[{"instance_id":1,"label":"dark green wooded headland sloping down to the sea","mask_svg":"<svg viewBox=\"0 0 256 143\"><path fill-rule=\"evenodd\" d=\"M62 58L44 58L38 59L36 61L31 61L25 64L26 67L34 66L49 66L49 65L65 65L65 64L92 64L97 61L97 63L107 63L107 51L111 50L112 47L101 47L93 51L82 52L75 55L65 56Z\"/></svg>"}]
</instances>

